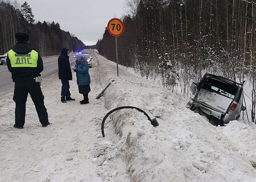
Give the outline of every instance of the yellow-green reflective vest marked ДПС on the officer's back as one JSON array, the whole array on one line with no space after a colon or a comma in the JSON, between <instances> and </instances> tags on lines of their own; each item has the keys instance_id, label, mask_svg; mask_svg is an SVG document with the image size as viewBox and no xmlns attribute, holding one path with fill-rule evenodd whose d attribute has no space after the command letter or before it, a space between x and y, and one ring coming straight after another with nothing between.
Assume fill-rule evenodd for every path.
<instances>
[{"instance_id":1,"label":"yellow-green reflective vest marked \u0414\u041f\u0421 on the officer's back","mask_svg":"<svg viewBox=\"0 0 256 182\"><path fill-rule=\"evenodd\" d=\"M27 54L17 54L11 49L8 52L8 57L11 62L12 68L16 67L37 67L38 52L32 50Z\"/></svg>"}]
</instances>

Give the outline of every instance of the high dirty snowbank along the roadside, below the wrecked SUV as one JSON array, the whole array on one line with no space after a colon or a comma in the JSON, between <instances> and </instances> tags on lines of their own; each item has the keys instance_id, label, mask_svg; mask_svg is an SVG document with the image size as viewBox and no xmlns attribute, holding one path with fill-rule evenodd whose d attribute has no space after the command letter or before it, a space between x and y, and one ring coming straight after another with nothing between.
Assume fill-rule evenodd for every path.
<instances>
[{"instance_id":1,"label":"high dirty snowbank along the roadside, below the wrecked SUV","mask_svg":"<svg viewBox=\"0 0 256 182\"><path fill-rule=\"evenodd\" d=\"M227 127L214 127L185 108L186 99L122 66L116 77L115 63L95 57L101 62L102 83L115 80L105 93L105 107L139 107L151 118L157 117L160 124L154 128L142 113L131 109L116 111L105 123L108 128L103 140L115 143L132 181L256 181L253 155L241 155L241 151L256 152L255 128L235 121ZM251 131L248 135L237 132L244 126L245 133ZM114 135L108 134L112 127ZM245 146L241 136L249 142L247 148L251 147L241 149Z\"/></svg>"}]
</instances>

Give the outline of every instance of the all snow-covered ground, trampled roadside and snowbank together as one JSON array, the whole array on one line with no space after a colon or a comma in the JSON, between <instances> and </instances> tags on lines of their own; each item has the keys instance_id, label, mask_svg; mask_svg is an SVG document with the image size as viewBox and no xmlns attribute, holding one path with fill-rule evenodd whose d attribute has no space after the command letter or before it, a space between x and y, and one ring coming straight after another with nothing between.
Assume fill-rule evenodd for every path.
<instances>
[{"instance_id":1,"label":"all snow-covered ground, trampled roadside and snowbank together","mask_svg":"<svg viewBox=\"0 0 256 182\"><path fill-rule=\"evenodd\" d=\"M187 109L188 99L138 77L92 52L90 104L80 105L75 73L70 81L76 101L60 102L57 74L44 78L42 90L52 125L40 126L31 98L23 130L13 128L13 91L0 98L0 182L145 181L256 182L256 126L232 121L214 127ZM109 82L100 99L95 97ZM120 106L135 109L112 113Z\"/></svg>"}]
</instances>

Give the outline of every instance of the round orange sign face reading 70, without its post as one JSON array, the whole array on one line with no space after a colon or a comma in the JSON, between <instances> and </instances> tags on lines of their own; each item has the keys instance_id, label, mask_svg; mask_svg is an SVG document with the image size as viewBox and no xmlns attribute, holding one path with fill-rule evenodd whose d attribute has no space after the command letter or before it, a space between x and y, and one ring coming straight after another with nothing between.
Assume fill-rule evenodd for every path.
<instances>
[{"instance_id":1,"label":"round orange sign face reading 70, without its post","mask_svg":"<svg viewBox=\"0 0 256 182\"><path fill-rule=\"evenodd\" d=\"M118 18L112 18L108 22L108 32L115 37L121 36L124 33L124 23Z\"/></svg>"}]
</instances>

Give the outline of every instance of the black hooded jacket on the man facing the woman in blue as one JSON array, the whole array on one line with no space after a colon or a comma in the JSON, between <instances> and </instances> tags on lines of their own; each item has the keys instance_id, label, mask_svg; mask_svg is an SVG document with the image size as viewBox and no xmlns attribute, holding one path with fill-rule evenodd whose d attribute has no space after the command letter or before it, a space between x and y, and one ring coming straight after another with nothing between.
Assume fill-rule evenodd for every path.
<instances>
[{"instance_id":1,"label":"black hooded jacket on the man facing the woman in blue","mask_svg":"<svg viewBox=\"0 0 256 182\"><path fill-rule=\"evenodd\" d=\"M61 55L58 58L58 67L59 67L59 79L61 80L72 80L72 72L69 63L67 48L61 50Z\"/></svg>"}]
</instances>

